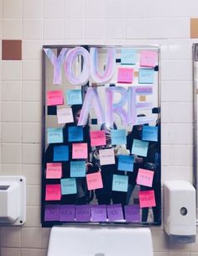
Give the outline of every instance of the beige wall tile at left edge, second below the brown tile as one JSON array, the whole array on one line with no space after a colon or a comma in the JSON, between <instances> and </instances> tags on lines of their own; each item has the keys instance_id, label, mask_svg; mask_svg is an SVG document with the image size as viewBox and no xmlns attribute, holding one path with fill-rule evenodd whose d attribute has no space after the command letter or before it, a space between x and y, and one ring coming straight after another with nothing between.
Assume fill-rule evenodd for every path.
<instances>
[{"instance_id":1,"label":"beige wall tile at left edge, second below the brown tile","mask_svg":"<svg viewBox=\"0 0 198 256\"><path fill-rule=\"evenodd\" d=\"M20 102L22 100L22 81L3 81L2 101Z\"/></svg>"}]
</instances>

